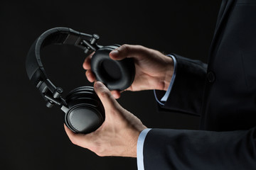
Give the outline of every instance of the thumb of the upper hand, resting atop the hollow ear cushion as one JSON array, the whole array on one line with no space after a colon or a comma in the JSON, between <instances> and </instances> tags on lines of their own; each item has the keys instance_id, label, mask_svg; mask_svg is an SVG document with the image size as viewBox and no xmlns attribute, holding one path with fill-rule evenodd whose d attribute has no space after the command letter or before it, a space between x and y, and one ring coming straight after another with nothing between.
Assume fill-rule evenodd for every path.
<instances>
[{"instance_id":1,"label":"thumb of the upper hand, resting atop the hollow ear cushion","mask_svg":"<svg viewBox=\"0 0 256 170\"><path fill-rule=\"evenodd\" d=\"M144 54L146 47L141 45L122 45L110 52L112 60L123 60L124 58L138 58Z\"/></svg>"}]
</instances>

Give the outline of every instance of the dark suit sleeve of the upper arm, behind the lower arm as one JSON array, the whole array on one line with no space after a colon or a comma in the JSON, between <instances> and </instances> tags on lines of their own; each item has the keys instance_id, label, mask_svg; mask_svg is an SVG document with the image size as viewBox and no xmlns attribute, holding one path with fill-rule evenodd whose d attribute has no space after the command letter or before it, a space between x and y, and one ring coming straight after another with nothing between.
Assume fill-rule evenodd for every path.
<instances>
[{"instance_id":1,"label":"dark suit sleeve of the upper arm, behind the lower arm","mask_svg":"<svg viewBox=\"0 0 256 170\"><path fill-rule=\"evenodd\" d=\"M207 64L198 60L191 60L179 55L176 58L176 78L163 106L159 111L178 111L193 115L200 115L203 101L203 89L206 79ZM156 91L159 100L165 91Z\"/></svg>"}]
</instances>

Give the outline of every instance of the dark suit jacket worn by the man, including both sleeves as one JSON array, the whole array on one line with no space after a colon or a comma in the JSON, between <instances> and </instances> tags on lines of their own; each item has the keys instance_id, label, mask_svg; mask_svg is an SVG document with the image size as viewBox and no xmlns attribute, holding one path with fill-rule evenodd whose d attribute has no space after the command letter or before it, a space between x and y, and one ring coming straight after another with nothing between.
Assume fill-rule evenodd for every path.
<instances>
[{"instance_id":1,"label":"dark suit jacket worn by the man, including both sleeves","mask_svg":"<svg viewBox=\"0 0 256 170\"><path fill-rule=\"evenodd\" d=\"M161 109L201 115L201 130L149 131L145 170L256 169L256 0L223 1L208 65L175 57Z\"/></svg>"}]
</instances>

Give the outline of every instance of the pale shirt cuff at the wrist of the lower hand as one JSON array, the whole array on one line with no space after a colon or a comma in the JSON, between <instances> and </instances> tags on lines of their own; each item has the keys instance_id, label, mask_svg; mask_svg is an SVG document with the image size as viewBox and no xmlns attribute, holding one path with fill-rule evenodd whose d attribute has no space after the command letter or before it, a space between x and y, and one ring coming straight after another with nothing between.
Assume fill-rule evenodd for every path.
<instances>
[{"instance_id":1,"label":"pale shirt cuff at the wrist of the lower hand","mask_svg":"<svg viewBox=\"0 0 256 170\"><path fill-rule=\"evenodd\" d=\"M137 142L137 166L138 170L144 170L144 158L143 158L143 146L144 146L144 141L146 138L147 133L151 129L144 129L142 132L139 134L138 142Z\"/></svg>"}]
</instances>

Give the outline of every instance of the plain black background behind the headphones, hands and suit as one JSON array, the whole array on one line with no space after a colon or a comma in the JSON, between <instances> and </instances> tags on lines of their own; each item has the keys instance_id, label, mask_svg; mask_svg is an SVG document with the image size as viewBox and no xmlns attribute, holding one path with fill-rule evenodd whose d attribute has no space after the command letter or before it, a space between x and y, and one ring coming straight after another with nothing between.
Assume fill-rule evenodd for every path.
<instances>
[{"instance_id":1,"label":"plain black background behind the headphones, hands and suit","mask_svg":"<svg viewBox=\"0 0 256 170\"><path fill-rule=\"evenodd\" d=\"M58 108L46 108L28 81L30 45L45 30L64 26L100 35L100 45L138 44L207 62L220 0L4 1L1 21L0 169L137 169L136 159L97 157L73 145ZM41 55L48 77L65 94L92 85L83 52L50 46ZM199 118L159 113L152 91L124 92L119 103L149 128L196 129Z\"/></svg>"}]
</instances>

